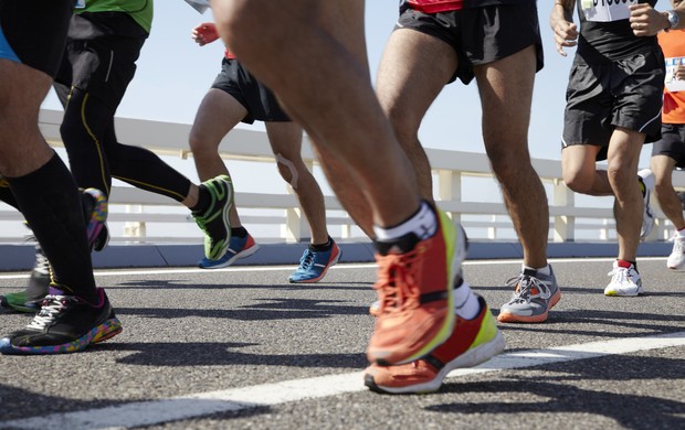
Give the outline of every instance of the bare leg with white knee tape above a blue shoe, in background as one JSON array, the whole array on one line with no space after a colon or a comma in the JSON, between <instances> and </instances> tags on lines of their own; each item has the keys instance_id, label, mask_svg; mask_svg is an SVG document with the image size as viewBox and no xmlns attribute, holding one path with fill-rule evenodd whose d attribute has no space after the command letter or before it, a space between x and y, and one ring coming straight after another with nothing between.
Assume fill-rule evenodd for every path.
<instances>
[{"instance_id":1,"label":"bare leg with white knee tape above a blue shoe, in background","mask_svg":"<svg viewBox=\"0 0 685 430\"><path fill-rule=\"evenodd\" d=\"M281 176L291 184L307 217L313 244L328 241L326 206L318 183L302 160L302 127L296 122L266 122Z\"/></svg>"}]
</instances>

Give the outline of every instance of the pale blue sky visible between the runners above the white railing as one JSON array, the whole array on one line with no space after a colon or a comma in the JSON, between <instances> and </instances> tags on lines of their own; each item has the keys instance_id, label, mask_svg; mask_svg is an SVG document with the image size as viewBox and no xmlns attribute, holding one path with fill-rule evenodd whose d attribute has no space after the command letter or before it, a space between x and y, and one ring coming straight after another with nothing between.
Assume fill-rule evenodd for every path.
<instances>
[{"instance_id":1,"label":"pale blue sky visible between the runners above the white railing","mask_svg":"<svg viewBox=\"0 0 685 430\"><path fill-rule=\"evenodd\" d=\"M533 157L559 159L565 89L572 55L556 53L549 29L552 1L538 2L545 50L545 68L537 74L529 144ZM190 39L191 29L211 21L211 11L199 14L182 0L155 4L150 37L145 44L136 77L129 85L117 116L191 123L196 109L220 71L220 42L200 47ZM367 1L367 43L371 74L376 74L383 46L398 14L397 0ZM572 50L569 51L572 54ZM54 95L44 107L60 108ZM475 82L445 87L426 115L420 130L425 147L481 152L481 109ZM244 126L250 127L250 126ZM257 129L260 125L253 126Z\"/></svg>"}]
</instances>

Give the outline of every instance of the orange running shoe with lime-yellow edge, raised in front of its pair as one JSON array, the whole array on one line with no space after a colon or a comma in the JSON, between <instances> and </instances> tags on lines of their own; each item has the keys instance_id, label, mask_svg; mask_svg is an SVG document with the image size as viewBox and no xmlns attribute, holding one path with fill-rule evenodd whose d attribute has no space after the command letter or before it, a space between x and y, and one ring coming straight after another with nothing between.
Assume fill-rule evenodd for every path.
<instances>
[{"instance_id":1,"label":"orange running shoe with lime-yellow edge, raised in front of its pair","mask_svg":"<svg viewBox=\"0 0 685 430\"><path fill-rule=\"evenodd\" d=\"M380 308L369 342L369 362L413 362L445 342L454 326L454 282L466 257L466 235L442 211L434 209L435 234L414 234L376 243Z\"/></svg>"}]
</instances>

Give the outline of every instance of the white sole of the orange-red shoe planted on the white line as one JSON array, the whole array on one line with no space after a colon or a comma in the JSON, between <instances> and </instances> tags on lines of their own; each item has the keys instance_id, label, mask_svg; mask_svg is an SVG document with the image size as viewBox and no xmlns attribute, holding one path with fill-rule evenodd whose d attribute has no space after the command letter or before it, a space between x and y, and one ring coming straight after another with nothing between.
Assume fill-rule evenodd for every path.
<instances>
[{"instance_id":1,"label":"white sole of the orange-red shoe planted on the white line","mask_svg":"<svg viewBox=\"0 0 685 430\"><path fill-rule=\"evenodd\" d=\"M435 374L435 377L428 383L411 385L407 387L386 387L377 385L372 375L365 375L363 384L372 391L383 394L429 394L435 393L442 386L444 378L450 372L457 368L475 367L487 362L494 356L500 354L506 348L506 342L499 331L497 335L489 342L478 345L466 351L464 354L455 357L453 361L444 365L443 368Z\"/></svg>"}]
</instances>

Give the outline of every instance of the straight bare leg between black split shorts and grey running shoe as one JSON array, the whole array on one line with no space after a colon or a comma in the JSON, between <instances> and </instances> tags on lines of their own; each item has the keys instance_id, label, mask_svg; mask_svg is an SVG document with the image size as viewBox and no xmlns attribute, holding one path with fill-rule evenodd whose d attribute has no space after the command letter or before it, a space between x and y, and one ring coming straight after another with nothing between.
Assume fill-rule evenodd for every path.
<instances>
[{"instance_id":1,"label":"straight bare leg between black split shorts and grey running shoe","mask_svg":"<svg viewBox=\"0 0 685 430\"><path fill-rule=\"evenodd\" d=\"M528 46L474 72L483 105L485 150L524 248L524 264L541 268L547 266L549 208L528 152L535 50Z\"/></svg>"}]
</instances>

